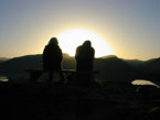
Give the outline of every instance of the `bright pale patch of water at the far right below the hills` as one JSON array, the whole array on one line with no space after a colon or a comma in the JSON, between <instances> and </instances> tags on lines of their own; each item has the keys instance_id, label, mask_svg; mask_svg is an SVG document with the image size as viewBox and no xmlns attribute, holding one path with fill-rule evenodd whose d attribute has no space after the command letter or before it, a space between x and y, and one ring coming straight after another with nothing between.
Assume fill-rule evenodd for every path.
<instances>
[{"instance_id":1,"label":"bright pale patch of water at the far right below the hills","mask_svg":"<svg viewBox=\"0 0 160 120\"><path fill-rule=\"evenodd\" d=\"M145 79L136 79L131 84L132 85L150 85L150 86L156 86L157 88L160 88L160 86L156 85L154 83L150 80L145 80Z\"/></svg>"}]
</instances>

